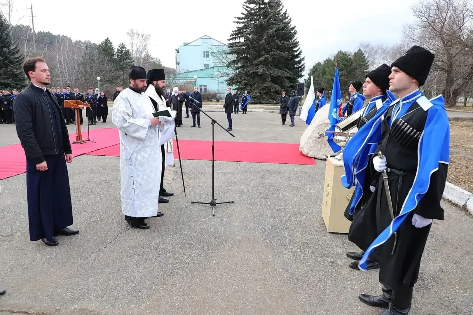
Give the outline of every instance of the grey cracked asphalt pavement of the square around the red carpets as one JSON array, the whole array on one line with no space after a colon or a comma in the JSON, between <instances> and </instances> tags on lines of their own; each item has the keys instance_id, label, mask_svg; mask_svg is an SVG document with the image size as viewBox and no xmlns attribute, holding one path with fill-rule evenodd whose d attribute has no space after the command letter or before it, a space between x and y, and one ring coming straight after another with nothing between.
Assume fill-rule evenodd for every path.
<instances>
[{"instance_id":1,"label":"grey cracked asphalt pavement of the square around the red carpets","mask_svg":"<svg viewBox=\"0 0 473 315\"><path fill-rule=\"evenodd\" d=\"M209 113L210 114L210 113ZM215 126L216 140L298 143L305 130L280 115L233 116L233 133ZM212 113L227 127L224 113ZM110 117L111 118L111 117ZM289 119L289 117L288 117ZM111 119L93 128L113 127ZM210 120L179 139L211 140ZM70 132L74 127L70 126ZM87 127L86 127L87 132ZM0 125L0 146L17 143ZM176 163L176 166L178 164ZM359 302L379 294L378 271L348 267L355 245L328 233L321 216L325 161L316 166L184 160L166 185L176 195L160 204L151 228L130 228L121 212L118 157L79 156L68 165L73 228L60 245L30 242L26 176L0 181L0 314L380 314ZM414 287L411 314L472 314L473 218L442 203Z\"/></svg>"}]
</instances>

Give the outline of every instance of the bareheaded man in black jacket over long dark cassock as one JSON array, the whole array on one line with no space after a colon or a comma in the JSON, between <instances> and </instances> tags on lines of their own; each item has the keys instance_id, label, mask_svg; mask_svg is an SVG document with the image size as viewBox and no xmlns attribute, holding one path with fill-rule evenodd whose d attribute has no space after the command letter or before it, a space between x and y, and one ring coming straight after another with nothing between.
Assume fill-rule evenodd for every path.
<instances>
[{"instance_id":1,"label":"bareheaded man in black jacket over long dark cassock","mask_svg":"<svg viewBox=\"0 0 473 315\"><path fill-rule=\"evenodd\" d=\"M72 150L61 107L46 89L51 77L41 57L26 59L31 84L15 98L17 134L26 155L26 194L31 241L57 246L58 235L74 235L69 174Z\"/></svg>"}]
</instances>

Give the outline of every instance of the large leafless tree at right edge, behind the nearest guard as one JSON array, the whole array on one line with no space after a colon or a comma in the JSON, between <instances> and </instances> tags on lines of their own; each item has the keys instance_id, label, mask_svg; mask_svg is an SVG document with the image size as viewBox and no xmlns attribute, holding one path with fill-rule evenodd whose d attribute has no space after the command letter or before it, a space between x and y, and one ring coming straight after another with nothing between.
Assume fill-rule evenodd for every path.
<instances>
[{"instance_id":1,"label":"large leafless tree at right edge, behind the nearest guard","mask_svg":"<svg viewBox=\"0 0 473 315\"><path fill-rule=\"evenodd\" d=\"M473 80L473 7L471 0L427 0L412 7L417 21L404 30L407 39L435 54L432 72L443 80L447 105Z\"/></svg>"}]
</instances>

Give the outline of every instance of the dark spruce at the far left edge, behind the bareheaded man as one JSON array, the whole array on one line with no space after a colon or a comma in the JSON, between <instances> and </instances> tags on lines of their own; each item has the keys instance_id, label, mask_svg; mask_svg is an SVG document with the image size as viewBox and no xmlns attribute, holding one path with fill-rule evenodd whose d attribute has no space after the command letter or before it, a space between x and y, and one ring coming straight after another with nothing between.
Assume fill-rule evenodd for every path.
<instances>
[{"instance_id":1,"label":"dark spruce at the far left edge, behind the bareheaded man","mask_svg":"<svg viewBox=\"0 0 473 315\"><path fill-rule=\"evenodd\" d=\"M10 25L0 14L0 87L20 89L26 86L21 68L23 55L13 42Z\"/></svg>"}]
</instances>

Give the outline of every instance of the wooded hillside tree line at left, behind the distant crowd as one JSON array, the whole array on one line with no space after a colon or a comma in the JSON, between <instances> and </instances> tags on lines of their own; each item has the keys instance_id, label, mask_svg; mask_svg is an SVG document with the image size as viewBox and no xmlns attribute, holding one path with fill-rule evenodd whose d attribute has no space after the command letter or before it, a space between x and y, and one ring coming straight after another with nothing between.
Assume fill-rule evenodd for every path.
<instances>
[{"instance_id":1,"label":"wooded hillside tree line at left, behind the distant crowd","mask_svg":"<svg viewBox=\"0 0 473 315\"><path fill-rule=\"evenodd\" d=\"M117 86L128 86L131 66L145 69L161 68L158 58L148 51L149 35L129 30L129 45L114 46L107 37L101 43L73 41L69 36L50 32L35 32L30 26L10 25L0 15L0 87L23 88L27 85L21 69L25 58L41 56L51 71L51 86L79 87L85 91L97 87L100 77L101 89L113 93ZM166 68L167 74L175 69Z\"/></svg>"}]
</instances>

